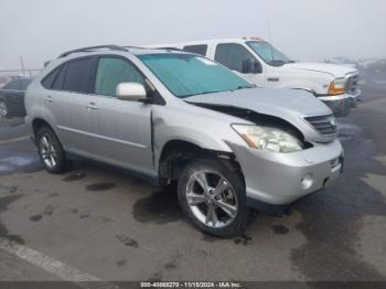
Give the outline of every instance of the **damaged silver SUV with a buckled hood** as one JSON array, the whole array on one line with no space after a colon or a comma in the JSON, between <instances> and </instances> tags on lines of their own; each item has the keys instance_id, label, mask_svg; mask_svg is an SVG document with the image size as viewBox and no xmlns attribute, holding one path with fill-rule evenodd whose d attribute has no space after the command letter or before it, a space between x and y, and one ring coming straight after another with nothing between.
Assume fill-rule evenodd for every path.
<instances>
[{"instance_id":1,"label":"damaged silver SUV with a buckled hood","mask_svg":"<svg viewBox=\"0 0 386 289\"><path fill-rule=\"evenodd\" d=\"M202 231L232 236L248 208L323 189L343 168L331 110L307 92L257 88L197 54L71 51L30 85L26 124L45 169L75 153L176 183Z\"/></svg>"}]
</instances>

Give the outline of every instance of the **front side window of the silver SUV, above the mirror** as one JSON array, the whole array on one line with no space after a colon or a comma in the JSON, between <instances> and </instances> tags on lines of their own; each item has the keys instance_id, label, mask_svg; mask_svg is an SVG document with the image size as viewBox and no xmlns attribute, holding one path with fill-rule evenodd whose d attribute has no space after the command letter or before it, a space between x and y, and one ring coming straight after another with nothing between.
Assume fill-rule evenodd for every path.
<instances>
[{"instance_id":1,"label":"front side window of the silver SUV, above the mirror","mask_svg":"<svg viewBox=\"0 0 386 289\"><path fill-rule=\"evenodd\" d=\"M101 57L95 78L95 94L116 96L117 85L120 83L144 84L141 74L125 60Z\"/></svg>"}]
</instances>

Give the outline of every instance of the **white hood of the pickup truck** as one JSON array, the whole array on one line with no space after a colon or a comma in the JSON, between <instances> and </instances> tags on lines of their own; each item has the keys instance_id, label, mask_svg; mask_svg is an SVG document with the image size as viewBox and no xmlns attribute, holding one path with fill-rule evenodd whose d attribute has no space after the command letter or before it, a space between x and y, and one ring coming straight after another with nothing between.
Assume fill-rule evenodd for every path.
<instances>
[{"instance_id":1,"label":"white hood of the pickup truck","mask_svg":"<svg viewBox=\"0 0 386 289\"><path fill-rule=\"evenodd\" d=\"M301 71L311 71L311 72L321 72L328 73L336 78L346 76L347 74L357 72L356 68L350 67L346 65L337 65L330 63L288 63L282 67L290 69L301 69Z\"/></svg>"}]
</instances>

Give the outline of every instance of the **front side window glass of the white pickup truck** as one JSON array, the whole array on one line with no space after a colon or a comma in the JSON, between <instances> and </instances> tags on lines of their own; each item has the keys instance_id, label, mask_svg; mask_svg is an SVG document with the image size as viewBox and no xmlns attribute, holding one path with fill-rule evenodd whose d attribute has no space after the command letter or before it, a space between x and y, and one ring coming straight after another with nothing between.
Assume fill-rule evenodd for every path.
<instances>
[{"instance_id":1,"label":"front side window glass of the white pickup truck","mask_svg":"<svg viewBox=\"0 0 386 289\"><path fill-rule=\"evenodd\" d=\"M232 71L245 73L245 63L256 62L256 58L240 44L217 44L214 60Z\"/></svg>"}]
</instances>

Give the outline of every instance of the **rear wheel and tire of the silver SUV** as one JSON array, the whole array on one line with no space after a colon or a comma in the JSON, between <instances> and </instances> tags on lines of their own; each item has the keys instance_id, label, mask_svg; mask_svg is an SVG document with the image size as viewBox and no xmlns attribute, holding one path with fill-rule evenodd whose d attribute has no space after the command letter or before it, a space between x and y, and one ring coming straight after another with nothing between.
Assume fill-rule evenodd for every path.
<instances>
[{"instance_id":1,"label":"rear wheel and tire of the silver SUV","mask_svg":"<svg viewBox=\"0 0 386 289\"><path fill-rule=\"evenodd\" d=\"M44 169L50 173L64 172L66 156L55 132L49 127L42 127L37 131L36 143L39 157Z\"/></svg>"}]
</instances>

